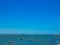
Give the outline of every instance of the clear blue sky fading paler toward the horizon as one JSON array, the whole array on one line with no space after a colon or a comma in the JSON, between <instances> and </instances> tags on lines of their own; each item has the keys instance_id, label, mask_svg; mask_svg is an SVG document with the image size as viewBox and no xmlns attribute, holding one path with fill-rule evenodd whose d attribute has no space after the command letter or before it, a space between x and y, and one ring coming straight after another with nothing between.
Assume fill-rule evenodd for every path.
<instances>
[{"instance_id":1,"label":"clear blue sky fading paler toward the horizon","mask_svg":"<svg viewBox=\"0 0 60 45\"><path fill-rule=\"evenodd\" d=\"M1 34L60 34L60 0L0 0Z\"/></svg>"}]
</instances>

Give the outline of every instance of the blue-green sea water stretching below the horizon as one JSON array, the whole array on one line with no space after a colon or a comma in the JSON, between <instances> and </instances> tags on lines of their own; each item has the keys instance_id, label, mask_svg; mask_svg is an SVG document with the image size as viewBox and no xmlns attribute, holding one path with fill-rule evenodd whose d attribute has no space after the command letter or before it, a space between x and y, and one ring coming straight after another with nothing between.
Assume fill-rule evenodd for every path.
<instances>
[{"instance_id":1,"label":"blue-green sea water stretching below the horizon","mask_svg":"<svg viewBox=\"0 0 60 45\"><path fill-rule=\"evenodd\" d=\"M60 35L0 35L0 45L58 45L59 41Z\"/></svg>"}]
</instances>

